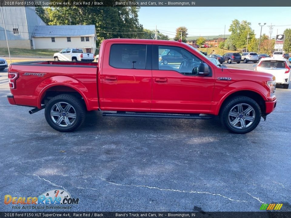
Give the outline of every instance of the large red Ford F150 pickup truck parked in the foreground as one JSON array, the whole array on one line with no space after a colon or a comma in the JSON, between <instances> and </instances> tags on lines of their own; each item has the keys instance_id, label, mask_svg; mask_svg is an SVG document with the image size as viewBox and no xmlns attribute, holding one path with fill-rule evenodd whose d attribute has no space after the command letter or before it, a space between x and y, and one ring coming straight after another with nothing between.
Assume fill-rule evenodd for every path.
<instances>
[{"instance_id":1,"label":"large red Ford F150 pickup truck parked in the foreground","mask_svg":"<svg viewBox=\"0 0 291 218\"><path fill-rule=\"evenodd\" d=\"M173 51L171 63L162 60L165 50ZM219 115L229 131L247 133L276 107L271 74L221 68L177 41L104 40L98 63L13 63L8 78L9 103L35 107L30 114L45 108L47 122L58 131L73 131L86 111L101 110L121 117Z\"/></svg>"}]
</instances>

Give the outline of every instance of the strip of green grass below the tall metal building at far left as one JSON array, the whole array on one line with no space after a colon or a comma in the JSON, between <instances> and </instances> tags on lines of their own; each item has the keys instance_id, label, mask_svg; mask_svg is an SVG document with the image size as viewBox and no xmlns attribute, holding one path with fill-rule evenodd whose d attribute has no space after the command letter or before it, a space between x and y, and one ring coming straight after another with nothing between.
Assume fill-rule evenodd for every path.
<instances>
[{"instance_id":1,"label":"strip of green grass below the tall metal building at far left","mask_svg":"<svg viewBox=\"0 0 291 218\"><path fill-rule=\"evenodd\" d=\"M54 53L59 51L53 51L48 49L23 49L23 48L9 48L10 55L24 55L24 56L53 56ZM0 55L8 55L7 48L0 48Z\"/></svg>"}]
</instances>

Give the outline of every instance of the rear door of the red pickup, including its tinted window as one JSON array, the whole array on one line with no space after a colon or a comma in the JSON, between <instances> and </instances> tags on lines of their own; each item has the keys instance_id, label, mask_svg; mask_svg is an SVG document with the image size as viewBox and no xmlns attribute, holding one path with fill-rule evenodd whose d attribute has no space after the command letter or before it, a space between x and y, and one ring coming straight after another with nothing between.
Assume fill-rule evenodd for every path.
<instances>
[{"instance_id":1,"label":"rear door of the red pickup, including its tinted window","mask_svg":"<svg viewBox=\"0 0 291 218\"><path fill-rule=\"evenodd\" d=\"M151 43L105 45L102 68L102 110L149 112L152 92Z\"/></svg>"}]
</instances>

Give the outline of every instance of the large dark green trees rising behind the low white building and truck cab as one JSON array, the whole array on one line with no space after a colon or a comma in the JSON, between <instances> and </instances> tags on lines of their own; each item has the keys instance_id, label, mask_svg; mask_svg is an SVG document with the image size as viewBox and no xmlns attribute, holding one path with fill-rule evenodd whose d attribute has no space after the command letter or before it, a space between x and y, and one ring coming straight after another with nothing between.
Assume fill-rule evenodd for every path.
<instances>
[{"instance_id":1,"label":"large dark green trees rising behind the low white building and truck cab","mask_svg":"<svg viewBox=\"0 0 291 218\"><path fill-rule=\"evenodd\" d=\"M113 5L108 0L106 4ZM47 7L49 25L95 25L97 45L109 38L144 38L148 32L138 20L139 7ZM146 36L145 36L146 35Z\"/></svg>"}]
</instances>

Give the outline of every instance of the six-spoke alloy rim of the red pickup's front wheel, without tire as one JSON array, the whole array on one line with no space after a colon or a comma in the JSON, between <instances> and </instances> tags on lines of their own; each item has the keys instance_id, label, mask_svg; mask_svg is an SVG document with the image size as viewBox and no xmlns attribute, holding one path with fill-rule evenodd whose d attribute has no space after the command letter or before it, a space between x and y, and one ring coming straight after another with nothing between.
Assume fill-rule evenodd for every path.
<instances>
[{"instance_id":1,"label":"six-spoke alloy rim of the red pickup's front wheel, without tire","mask_svg":"<svg viewBox=\"0 0 291 218\"><path fill-rule=\"evenodd\" d=\"M229 111L229 124L236 129L245 129L255 121L256 113L249 104L236 104Z\"/></svg>"}]
</instances>

